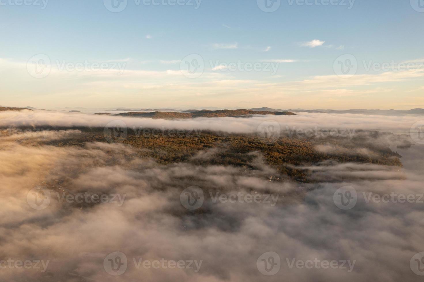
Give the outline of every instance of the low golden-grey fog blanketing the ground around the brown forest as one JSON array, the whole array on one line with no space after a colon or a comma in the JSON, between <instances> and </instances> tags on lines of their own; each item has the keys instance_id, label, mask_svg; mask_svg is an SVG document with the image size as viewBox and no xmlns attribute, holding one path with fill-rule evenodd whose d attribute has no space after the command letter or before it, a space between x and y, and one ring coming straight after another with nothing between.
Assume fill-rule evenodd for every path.
<instances>
[{"instance_id":1,"label":"low golden-grey fog blanketing the ground around the brown forest","mask_svg":"<svg viewBox=\"0 0 424 282\"><path fill-rule=\"evenodd\" d=\"M128 127L229 133L256 133L267 120L283 130L408 134L416 122L424 124L416 116L300 113L171 121L22 111L1 112L0 128L103 127L116 119ZM47 138L72 134L80 132L50 131ZM298 183L270 181L278 172L260 155L253 171L161 166L122 144L59 148L6 136L0 138L0 276L17 282L422 281L423 149L417 143L396 149L402 169L326 163L308 167L315 182ZM55 184L62 190L33 189L50 180L63 180ZM88 202L72 197L86 192ZM104 201L94 203L95 195ZM191 196L204 199L201 207L192 205Z\"/></svg>"}]
</instances>

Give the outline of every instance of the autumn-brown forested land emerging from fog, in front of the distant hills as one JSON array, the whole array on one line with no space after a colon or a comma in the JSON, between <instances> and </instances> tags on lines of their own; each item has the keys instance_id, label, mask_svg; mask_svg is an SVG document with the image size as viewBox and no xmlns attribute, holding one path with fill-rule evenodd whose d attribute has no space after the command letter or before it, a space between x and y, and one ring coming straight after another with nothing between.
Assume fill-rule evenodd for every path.
<instances>
[{"instance_id":1,"label":"autumn-brown forested land emerging from fog, in front of the distant hills","mask_svg":"<svg viewBox=\"0 0 424 282\"><path fill-rule=\"evenodd\" d=\"M151 157L162 164L190 162L198 165L231 165L254 169L254 159L263 156L265 163L299 181L307 181L307 171L293 169L293 166L316 164L324 160L402 166L399 154L383 145L376 147L372 142L368 144L361 137L351 141L341 138L288 137L271 140L256 135L214 132L187 132L176 135L175 132L170 134L166 130L158 130L155 134L137 134L129 130L126 138L111 140L105 137L103 128L79 129L83 133L77 137L50 143L55 146L84 146L85 142L93 141L117 142L130 145L140 157ZM341 149L320 152L316 149L320 144L338 146L336 148ZM355 148L366 148L372 155L357 154Z\"/></svg>"}]
</instances>

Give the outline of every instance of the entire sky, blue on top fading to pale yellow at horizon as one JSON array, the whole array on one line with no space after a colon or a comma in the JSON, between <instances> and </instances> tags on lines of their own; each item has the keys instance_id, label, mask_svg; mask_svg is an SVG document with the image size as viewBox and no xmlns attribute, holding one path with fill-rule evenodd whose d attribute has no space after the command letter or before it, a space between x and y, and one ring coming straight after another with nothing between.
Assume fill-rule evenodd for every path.
<instances>
[{"instance_id":1,"label":"entire sky, blue on top fading to pale yellow at horizon","mask_svg":"<svg viewBox=\"0 0 424 282\"><path fill-rule=\"evenodd\" d=\"M181 0L192 6L128 0L120 12L109 11L108 0L47 5L27 0L28 5L17 6L19 1L0 0L2 105L424 108L419 64L424 12L414 9L414 0L334 0L338 5L328 6L316 4L326 0L310 0L311 6L281 0L274 12L262 11L261 0L202 0L200 5ZM46 77L32 77L27 70L28 60L38 54L50 59ZM190 54L204 60L200 77L181 74L179 61ZM334 69L344 54L357 60L353 77ZM84 62L107 62L111 70L58 67ZM237 62L262 69L225 68ZM267 71L266 62L278 63L275 73ZM370 62L395 66L367 70ZM402 62L416 65L399 71ZM114 63L125 63L122 74ZM218 63L224 66L213 69Z\"/></svg>"}]
</instances>

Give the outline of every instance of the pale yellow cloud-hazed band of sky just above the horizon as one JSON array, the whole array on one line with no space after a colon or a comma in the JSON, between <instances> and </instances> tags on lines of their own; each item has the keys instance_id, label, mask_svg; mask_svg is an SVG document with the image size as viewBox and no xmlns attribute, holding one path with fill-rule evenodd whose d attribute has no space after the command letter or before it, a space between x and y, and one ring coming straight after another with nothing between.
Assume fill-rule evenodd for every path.
<instances>
[{"instance_id":1,"label":"pale yellow cloud-hazed band of sky just above the horizon","mask_svg":"<svg viewBox=\"0 0 424 282\"><path fill-rule=\"evenodd\" d=\"M187 78L179 70L65 71L29 75L27 64L0 59L0 105L35 108L424 108L424 69L319 75L287 81L284 77L236 79L232 73L205 70Z\"/></svg>"}]
</instances>

